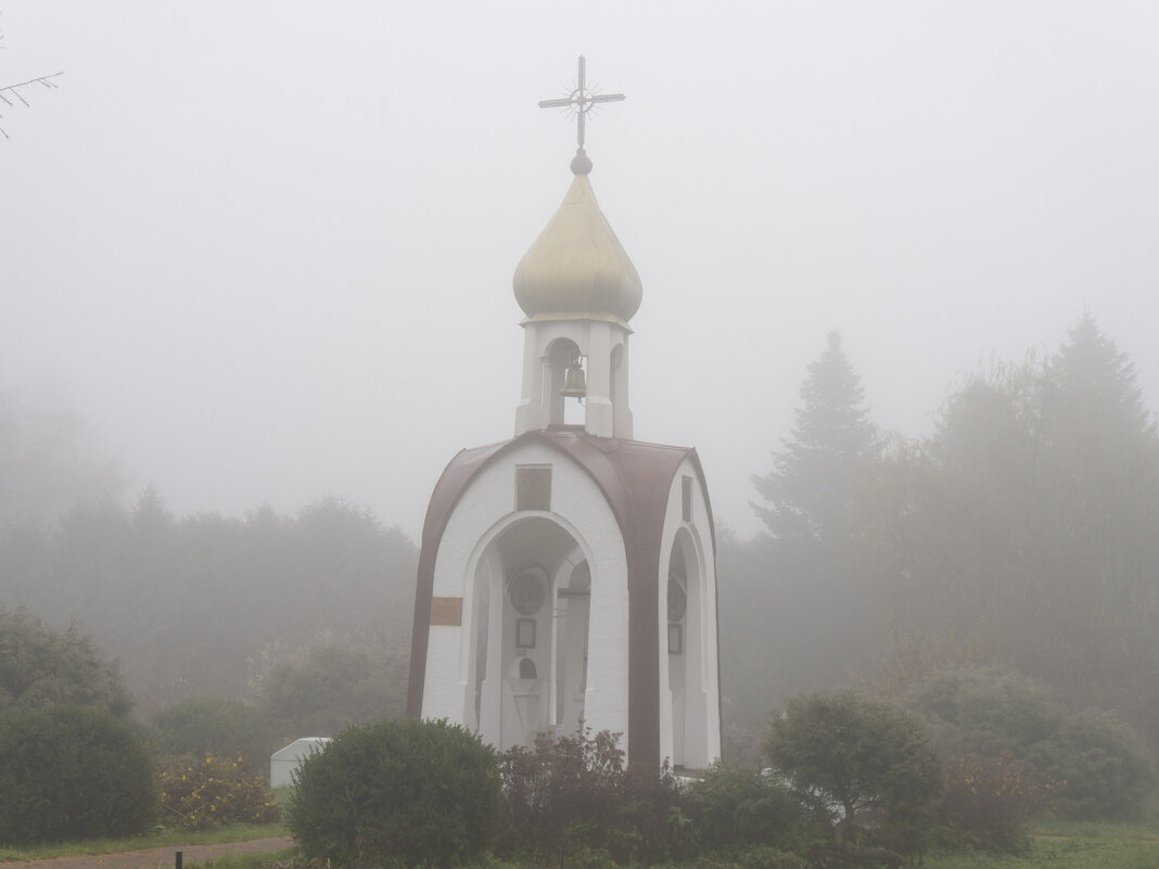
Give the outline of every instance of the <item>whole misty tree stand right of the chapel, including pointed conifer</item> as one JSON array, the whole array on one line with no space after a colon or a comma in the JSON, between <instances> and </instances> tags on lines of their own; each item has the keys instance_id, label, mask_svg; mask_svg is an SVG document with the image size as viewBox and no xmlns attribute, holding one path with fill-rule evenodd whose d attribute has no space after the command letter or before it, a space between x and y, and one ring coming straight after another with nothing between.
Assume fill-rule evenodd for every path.
<instances>
[{"instance_id":1,"label":"whole misty tree stand right of the chapel, including pointed conifer","mask_svg":"<svg viewBox=\"0 0 1159 869\"><path fill-rule=\"evenodd\" d=\"M726 732L751 744L801 691L1000 664L1159 748L1159 439L1129 357L1085 315L967 378L928 438L865 407L831 336L753 479L768 533L722 536Z\"/></svg>"}]
</instances>

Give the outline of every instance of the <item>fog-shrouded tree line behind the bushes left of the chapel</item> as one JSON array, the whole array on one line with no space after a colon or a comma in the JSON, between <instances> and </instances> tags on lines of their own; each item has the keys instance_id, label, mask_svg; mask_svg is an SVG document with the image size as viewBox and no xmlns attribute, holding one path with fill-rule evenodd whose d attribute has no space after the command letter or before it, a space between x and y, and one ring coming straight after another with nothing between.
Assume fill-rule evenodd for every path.
<instances>
[{"instance_id":1,"label":"fog-shrouded tree line behind the bushes left of the chapel","mask_svg":"<svg viewBox=\"0 0 1159 869\"><path fill-rule=\"evenodd\" d=\"M312 647L406 670L415 548L341 501L296 517L263 507L177 518L147 490L127 509L85 503L51 525L9 525L0 561L0 601L51 627L75 621L119 659L143 715L189 695L257 698L270 681L292 684ZM328 694L315 702L358 672L318 680ZM378 674L401 695L399 678ZM381 702L376 714L393 709L385 694L369 695Z\"/></svg>"}]
</instances>

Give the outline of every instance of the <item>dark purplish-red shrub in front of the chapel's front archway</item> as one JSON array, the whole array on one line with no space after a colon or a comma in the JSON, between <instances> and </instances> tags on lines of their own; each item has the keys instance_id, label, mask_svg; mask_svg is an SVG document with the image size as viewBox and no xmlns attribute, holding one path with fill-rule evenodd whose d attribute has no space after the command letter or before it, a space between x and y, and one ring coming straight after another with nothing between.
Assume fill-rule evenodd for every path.
<instances>
[{"instance_id":1,"label":"dark purplish-red shrub in front of the chapel's front archway","mask_svg":"<svg viewBox=\"0 0 1159 869\"><path fill-rule=\"evenodd\" d=\"M582 863L655 862L687 855L695 842L686 799L671 769L627 769L620 733L583 730L535 751L508 750L500 761L506 824L498 850Z\"/></svg>"}]
</instances>

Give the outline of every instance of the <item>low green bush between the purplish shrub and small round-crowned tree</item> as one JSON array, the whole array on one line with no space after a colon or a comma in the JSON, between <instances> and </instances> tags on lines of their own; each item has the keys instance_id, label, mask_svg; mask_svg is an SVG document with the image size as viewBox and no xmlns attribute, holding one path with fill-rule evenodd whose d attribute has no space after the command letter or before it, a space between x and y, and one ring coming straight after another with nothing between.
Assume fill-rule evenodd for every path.
<instances>
[{"instance_id":1,"label":"low green bush between the purplish shrub and small round-crowned tree","mask_svg":"<svg viewBox=\"0 0 1159 869\"><path fill-rule=\"evenodd\" d=\"M783 848L802 835L809 819L778 779L738 764L710 766L688 798L700 840L709 848Z\"/></svg>"}]
</instances>

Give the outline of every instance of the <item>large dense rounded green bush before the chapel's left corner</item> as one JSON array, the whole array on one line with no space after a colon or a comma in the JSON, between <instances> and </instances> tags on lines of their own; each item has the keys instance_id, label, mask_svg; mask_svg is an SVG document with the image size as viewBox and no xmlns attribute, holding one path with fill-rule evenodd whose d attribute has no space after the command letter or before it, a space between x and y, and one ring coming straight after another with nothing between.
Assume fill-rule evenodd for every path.
<instances>
[{"instance_id":1,"label":"large dense rounded green bush before the chapel's left corner","mask_svg":"<svg viewBox=\"0 0 1159 869\"><path fill-rule=\"evenodd\" d=\"M460 725L362 724L302 761L286 821L307 859L442 869L487 850L500 788L495 752Z\"/></svg>"}]
</instances>

